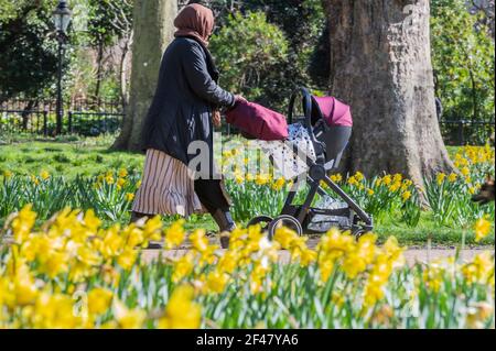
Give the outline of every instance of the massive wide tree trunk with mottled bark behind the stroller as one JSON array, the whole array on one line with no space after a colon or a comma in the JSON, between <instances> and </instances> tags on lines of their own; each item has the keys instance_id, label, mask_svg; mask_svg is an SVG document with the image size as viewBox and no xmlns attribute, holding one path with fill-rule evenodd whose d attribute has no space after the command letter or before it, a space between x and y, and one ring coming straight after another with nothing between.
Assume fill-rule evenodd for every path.
<instances>
[{"instance_id":1,"label":"massive wide tree trunk with mottled bark behind the stroller","mask_svg":"<svg viewBox=\"0 0 496 351\"><path fill-rule=\"evenodd\" d=\"M352 106L343 162L366 175L400 173L418 185L453 165L434 103L429 0L324 0L331 94Z\"/></svg>"}]
</instances>

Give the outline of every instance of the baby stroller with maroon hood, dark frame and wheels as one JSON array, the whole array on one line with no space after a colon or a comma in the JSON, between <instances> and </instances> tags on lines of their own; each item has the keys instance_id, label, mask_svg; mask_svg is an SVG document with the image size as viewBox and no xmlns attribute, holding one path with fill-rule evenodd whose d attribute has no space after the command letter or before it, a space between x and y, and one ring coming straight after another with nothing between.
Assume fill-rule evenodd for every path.
<instances>
[{"instance_id":1,"label":"baby stroller with maroon hood, dark frame and wheels","mask_svg":"<svg viewBox=\"0 0 496 351\"><path fill-rule=\"evenodd\" d=\"M293 121L296 99L302 96L303 116ZM293 94L288 114L289 128L300 123L314 150L314 157L304 157L308 172L295 177L280 216L259 216L248 222L248 227L260 223L271 239L279 226L293 229L298 234L323 234L332 227L351 230L362 235L373 230L373 218L367 215L328 174L339 164L343 152L352 134L349 107L333 97L314 97L306 88ZM306 133L308 132L308 133ZM293 150L296 153L298 150ZM309 193L303 204L293 204L300 185L306 182ZM324 182L333 196L321 187ZM316 195L321 196L320 208L312 207ZM341 200L337 200L339 198Z\"/></svg>"}]
</instances>

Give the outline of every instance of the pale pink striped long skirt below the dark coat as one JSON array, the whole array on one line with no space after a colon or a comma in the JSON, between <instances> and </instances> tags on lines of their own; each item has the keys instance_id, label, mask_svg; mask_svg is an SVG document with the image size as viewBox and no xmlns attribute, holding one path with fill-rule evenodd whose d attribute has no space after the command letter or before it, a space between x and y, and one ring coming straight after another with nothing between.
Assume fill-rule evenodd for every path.
<instances>
[{"instance_id":1,"label":"pale pink striped long skirt below the dark coat","mask_svg":"<svg viewBox=\"0 0 496 351\"><path fill-rule=\"evenodd\" d=\"M150 149L132 211L188 217L204 213L205 209L195 194L194 178L187 166L164 152Z\"/></svg>"}]
</instances>

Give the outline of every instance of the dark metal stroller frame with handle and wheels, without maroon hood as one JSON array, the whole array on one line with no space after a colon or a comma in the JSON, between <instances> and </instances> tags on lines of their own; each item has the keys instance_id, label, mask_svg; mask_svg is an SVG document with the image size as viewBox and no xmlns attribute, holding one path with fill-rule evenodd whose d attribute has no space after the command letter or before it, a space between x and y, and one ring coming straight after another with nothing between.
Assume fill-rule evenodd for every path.
<instances>
[{"instance_id":1,"label":"dark metal stroller frame with handle and wheels, without maroon hood","mask_svg":"<svg viewBox=\"0 0 496 351\"><path fill-rule=\"evenodd\" d=\"M325 153L326 144L324 141L317 140L315 135L322 134L325 131L330 130L327 123L320 118L320 120L312 125L312 96L310 91L302 87L291 97L290 102L290 111L288 114L289 123L291 124L293 121L293 109L294 102L299 94L303 95L303 110L304 110L304 120L303 125L306 128L311 142L313 143L316 160L312 161L309 157L305 157L304 162L309 166L309 171L306 174L306 183L310 186L310 190L305 197L305 200L302 205L294 205L294 198L298 193L298 189L303 179L300 177L295 177L293 179L292 188L290 189L288 197L285 199L284 206L281 210L281 215L277 218L272 219L268 216L260 216L254 218L249 223L249 226L254 226L257 223L266 222L267 229L269 232L269 238L271 239L274 234L276 229L281 226L288 226L291 229L294 229L299 234L303 234L309 232L309 223L312 218L316 215L328 216L335 218L346 218L349 226L338 227L341 230L351 230L352 233L356 237L359 237L366 232L369 232L374 229L374 221L370 215L366 213L336 183L334 183L327 175L327 173L337 166L341 153L335 160L331 160L331 162L326 163ZM321 116L322 117L322 116ZM333 127L331 127L333 128ZM351 131L349 131L351 133ZM347 139L349 134L347 134L345 145L347 143ZM343 146L343 150L345 147ZM338 208L338 209L322 209L311 207L311 204L315 196L322 195L327 196L328 194L321 187L321 182L324 182L328 188L337 195L346 205L347 208ZM313 231L311 233L324 233L320 231Z\"/></svg>"}]
</instances>

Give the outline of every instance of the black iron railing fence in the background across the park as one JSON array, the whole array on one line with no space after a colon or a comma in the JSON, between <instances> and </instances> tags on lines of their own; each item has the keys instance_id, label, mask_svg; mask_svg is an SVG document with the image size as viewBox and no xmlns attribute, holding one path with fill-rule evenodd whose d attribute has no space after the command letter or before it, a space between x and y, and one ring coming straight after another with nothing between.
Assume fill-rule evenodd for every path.
<instances>
[{"instance_id":1,"label":"black iron railing fence in the background across the park","mask_svg":"<svg viewBox=\"0 0 496 351\"><path fill-rule=\"evenodd\" d=\"M31 133L53 136L56 130L56 103L45 100L11 100L0 105L0 134ZM76 99L64 106L64 134L97 136L120 130L125 113L120 102ZM495 122L443 119L441 133L446 145L484 145L494 135ZM230 125L223 133L237 134Z\"/></svg>"}]
</instances>

